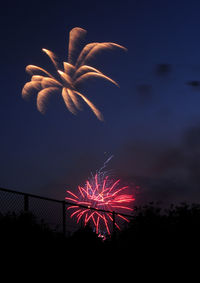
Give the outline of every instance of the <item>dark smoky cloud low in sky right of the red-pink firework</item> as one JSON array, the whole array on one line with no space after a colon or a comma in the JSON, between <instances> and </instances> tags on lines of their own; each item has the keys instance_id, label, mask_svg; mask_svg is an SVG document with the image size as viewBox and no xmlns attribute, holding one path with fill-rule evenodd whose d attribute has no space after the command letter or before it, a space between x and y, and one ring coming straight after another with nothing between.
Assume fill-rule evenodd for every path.
<instances>
[{"instance_id":1,"label":"dark smoky cloud low in sky right of the red-pink firework","mask_svg":"<svg viewBox=\"0 0 200 283\"><path fill-rule=\"evenodd\" d=\"M140 186L138 202L199 202L200 126L187 129L177 145L130 141L114 166L130 186Z\"/></svg>"}]
</instances>

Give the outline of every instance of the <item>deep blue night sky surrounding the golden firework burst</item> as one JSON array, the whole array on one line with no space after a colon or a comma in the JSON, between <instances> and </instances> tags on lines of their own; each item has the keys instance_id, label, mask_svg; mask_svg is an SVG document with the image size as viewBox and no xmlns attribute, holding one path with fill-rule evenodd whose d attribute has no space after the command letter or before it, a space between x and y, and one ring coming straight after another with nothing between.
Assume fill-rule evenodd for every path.
<instances>
[{"instance_id":1,"label":"deep blue night sky surrounding the golden firework burst","mask_svg":"<svg viewBox=\"0 0 200 283\"><path fill-rule=\"evenodd\" d=\"M0 186L63 199L109 163L138 202L200 201L200 2L4 1L1 4ZM111 41L91 65L117 81L88 80L76 116L61 95L47 112L21 97L29 64L51 71L47 48L67 60L68 35Z\"/></svg>"}]
</instances>

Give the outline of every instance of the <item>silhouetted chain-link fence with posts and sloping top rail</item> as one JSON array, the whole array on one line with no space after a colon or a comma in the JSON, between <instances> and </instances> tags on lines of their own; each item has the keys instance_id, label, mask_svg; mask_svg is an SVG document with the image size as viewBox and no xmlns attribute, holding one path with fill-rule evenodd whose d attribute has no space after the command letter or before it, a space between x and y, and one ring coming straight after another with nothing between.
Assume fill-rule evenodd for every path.
<instances>
[{"instance_id":1,"label":"silhouetted chain-link fence with posts and sloping top rail","mask_svg":"<svg viewBox=\"0 0 200 283\"><path fill-rule=\"evenodd\" d=\"M64 200L57 200L47 198L39 195L23 193L19 191L0 188L0 213L6 215L9 213L19 214L21 212L31 212L38 222L43 222L55 232L61 232L64 236L73 234L76 230L83 226L83 221L78 223L70 218L69 207L74 205ZM88 209L95 211L97 209L78 205L80 209ZM131 219L132 215L126 215L115 211L107 211L98 209L102 214L108 214L111 218L109 230L112 236L116 234L116 216L128 217Z\"/></svg>"}]
</instances>

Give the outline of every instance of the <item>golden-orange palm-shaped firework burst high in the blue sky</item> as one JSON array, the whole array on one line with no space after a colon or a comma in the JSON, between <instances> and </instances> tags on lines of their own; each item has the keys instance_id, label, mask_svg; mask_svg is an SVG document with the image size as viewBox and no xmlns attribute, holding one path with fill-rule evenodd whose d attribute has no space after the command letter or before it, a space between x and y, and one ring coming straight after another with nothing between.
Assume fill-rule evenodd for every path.
<instances>
[{"instance_id":1,"label":"golden-orange palm-shaped firework burst high in the blue sky","mask_svg":"<svg viewBox=\"0 0 200 283\"><path fill-rule=\"evenodd\" d=\"M99 120L103 121L103 115L97 107L79 91L78 84L89 78L103 78L119 86L114 80L106 76L96 68L86 65L86 61L93 58L99 51L113 49L115 47L127 50L125 47L113 42L93 42L85 45L82 51L77 54L80 42L85 37L87 31L76 27L70 31L68 46L68 62L63 62L61 70L57 56L50 50L43 48L56 69L57 75L52 75L45 69L28 65L26 71L32 76L31 81L26 83L22 90L22 97L28 98L35 90L38 93L37 109L45 113L46 100L52 92L60 92L67 109L76 114L81 110L80 99L82 99L93 111Z\"/></svg>"}]
</instances>

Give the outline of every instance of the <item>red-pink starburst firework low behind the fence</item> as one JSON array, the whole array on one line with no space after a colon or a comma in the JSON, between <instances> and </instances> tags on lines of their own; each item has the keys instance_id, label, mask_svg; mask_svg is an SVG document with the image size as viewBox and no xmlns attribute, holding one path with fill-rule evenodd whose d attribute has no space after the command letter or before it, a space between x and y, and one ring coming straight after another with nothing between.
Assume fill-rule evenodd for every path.
<instances>
[{"instance_id":1,"label":"red-pink starburst firework low behind the fence","mask_svg":"<svg viewBox=\"0 0 200 283\"><path fill-rule=\"evenodd\" d=\"M124 214L133 211L130 205L135 198L126 193L128 186L120 186L119 183L120 179L113 181L99 171L86 181L84 187L78 186L78 193L67 191L65 199L74 203L68 207L72 211L70 217L76 217L77 223L82 220L84 225L92 223L97 234L107 231L110 235L114 211L115 226L120 230L119 222L129 222Z\"/></svg>"}]
</instances>

